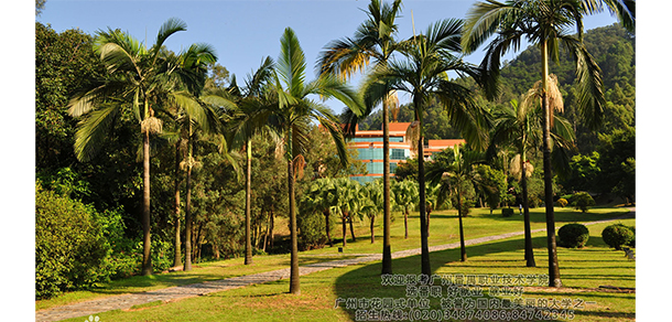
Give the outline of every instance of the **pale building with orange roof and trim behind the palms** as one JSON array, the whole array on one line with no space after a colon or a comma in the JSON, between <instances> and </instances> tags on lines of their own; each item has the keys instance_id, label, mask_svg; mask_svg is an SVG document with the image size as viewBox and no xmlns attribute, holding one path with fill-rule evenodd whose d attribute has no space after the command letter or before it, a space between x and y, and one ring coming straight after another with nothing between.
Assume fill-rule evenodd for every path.
<instances>
[{"instance_id":1,"label":"pale building with orange roof and trim behind the palms","mask_svg":"<svg viewBox=\"0 0 672 322\"><path fill-rule=\"evenodd\" d=\"M394 176L394 170L400 162L415 157L415 151L411 150L411 142L407 139L407 129L410 122L390 122L390 175ZM424 147L425 160L429 160L434 152L462 144L463 139L451 140L429 140ZM366 164L368 174L351 175L359 183L371 182L382 178L382 129L376 131L360 131L357 128L355 137L348 143L350 149L357 149L358 160Z\"/></svg>"}]
</instances>

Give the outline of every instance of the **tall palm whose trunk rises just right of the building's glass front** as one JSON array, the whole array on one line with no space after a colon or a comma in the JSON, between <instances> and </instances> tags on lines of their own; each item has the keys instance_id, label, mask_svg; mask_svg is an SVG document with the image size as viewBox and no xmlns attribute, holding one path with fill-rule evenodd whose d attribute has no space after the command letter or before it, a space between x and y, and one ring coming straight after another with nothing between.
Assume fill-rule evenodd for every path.
<instances>
[{"instance_id":1,"label":"tall palm whose trunk rises just right of the building's glass front","mask_svg":"<svg viewBox=\"0 0 672 322\"><path fill-rule=\"evenodd\" d=\"M435 97L444 107L453 127L460 129L462 136L474 147L485 148L487 135L486 112L473 99L473 93L451 80L448 72L459 76L473 76L480 80L478 69L455 56L462 53L462 21L456 19L432 23L424 34L413 36L400 49L405 61L393 61L388 65L375 66L364 80L365 101L376 101L390 89L409 93L412 96L414 122L419 131L418 178L420 183L420 229L422 249L422 273L431 275L427 243L426 201L424 179L424 129L423 115L430 98Z\"/></svg>"}]
</instances>

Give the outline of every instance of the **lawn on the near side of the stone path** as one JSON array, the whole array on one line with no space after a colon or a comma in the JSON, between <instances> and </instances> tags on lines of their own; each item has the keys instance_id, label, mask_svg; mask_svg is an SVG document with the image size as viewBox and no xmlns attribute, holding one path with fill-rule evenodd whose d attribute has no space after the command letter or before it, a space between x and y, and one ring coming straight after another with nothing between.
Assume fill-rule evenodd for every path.
<instances>
[{"instance_id":1,"label":"lawn on the near side of the stone path","mask_svg":"<svg viewBox=\"0 0 672 322\"><path fill-rule=\"evenodd\" d=\"M621 222L626 225L635 224L635 219ZM601 285L635 287L635 262L627 260L622 251L609 249L601 243L600 233L607 225L588 226L590 239L585 248L559 248L564 288L525 287L523 299L559 302L568 299L572 304L581 301L584 308L573 312L577 321L635 320L635 293L597 289ZM538 264L535 268L524 267L522 236L469 246L469 258L466 262L457 260L458 249L432 253L432 267L440 276L544 275L548 272L548 266L544 265L544 234L538 233L533 237ZM420 256L393 260L397 275L416 275L419 267ZM382 286L379 273L378 261L304 276L301 278L301 296L288 294L289 281L281 280L163 303L139 311L117 310L98 315L100 321L353 321L356 319L356 311L344 308L345 303L334 308L337 299L407 297L405 287ZM443 288L444 293L446 288ZM487 291L484 293L487 294ZM431 308L440 310L440 301L432 299Z\"/></svg>"}]
</instances>

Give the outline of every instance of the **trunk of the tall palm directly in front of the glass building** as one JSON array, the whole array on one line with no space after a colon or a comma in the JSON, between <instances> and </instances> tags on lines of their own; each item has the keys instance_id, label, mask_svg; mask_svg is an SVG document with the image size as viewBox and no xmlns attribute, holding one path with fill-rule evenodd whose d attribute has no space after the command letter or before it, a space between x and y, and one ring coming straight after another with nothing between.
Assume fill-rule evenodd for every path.
<instances>
[{"instance_id":1,"label":"trunk of the tall palm directly in front of the glass building","mask_svg":"<svg viewBox=\"0 0 672 322\"><path fill-rule=\"evenodd\" d=\"M388 101L382 101L382 272L392 273L392 245L390 244L390 129ZM408 238L408 233L407 233Z\"/></svg>"}]
</instances>

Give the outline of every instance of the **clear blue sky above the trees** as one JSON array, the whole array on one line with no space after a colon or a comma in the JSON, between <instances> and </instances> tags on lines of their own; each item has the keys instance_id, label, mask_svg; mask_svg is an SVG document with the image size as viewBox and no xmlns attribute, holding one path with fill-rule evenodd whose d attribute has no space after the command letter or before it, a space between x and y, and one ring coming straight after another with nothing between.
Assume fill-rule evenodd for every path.
<instances>
[{"instance_id":1,"label":"clear blue sky above the trees","mask_svg":"<svg viewBox=\"0 0 672 322\"><path fill-rule=\"evenodd\" d=\"M473 0L403 1L402 17L398 19L399 36L412 36L412 19L418 33L430 23L446 18L464 18L474 4ZM218 63L238 79L256 69L263 57L277 58L280 53L280 36L291 26L301 41L312 68L322 49L332 40L353 35L366 19L360 9L366 9L365 0L252 0L252 1L127 1L127 0L47 0L44 11L35 21L48 23L58 32L79 28L94 34L108 26L129 32L148 46L154 42L159 28L171 17L182 19L187 31L174 34L166 46L175 52L192 43L208 43L218 55ZM603 13L586 19L586 29L608 25L616 19ZM523 46L524 49L524 46ZM507 55L512 60L514 53ZM477 52L467 61L479 63L483 54ZM311 71L313 72L313 71ZM314 73L313 73L314 74ZM310 75L308 79L313 79ZM358 78L354 79L357 85ZM400 97L402 103L408 97ZM342 104L328 101L336 112Z\"/></svg>"}]
</instances>

